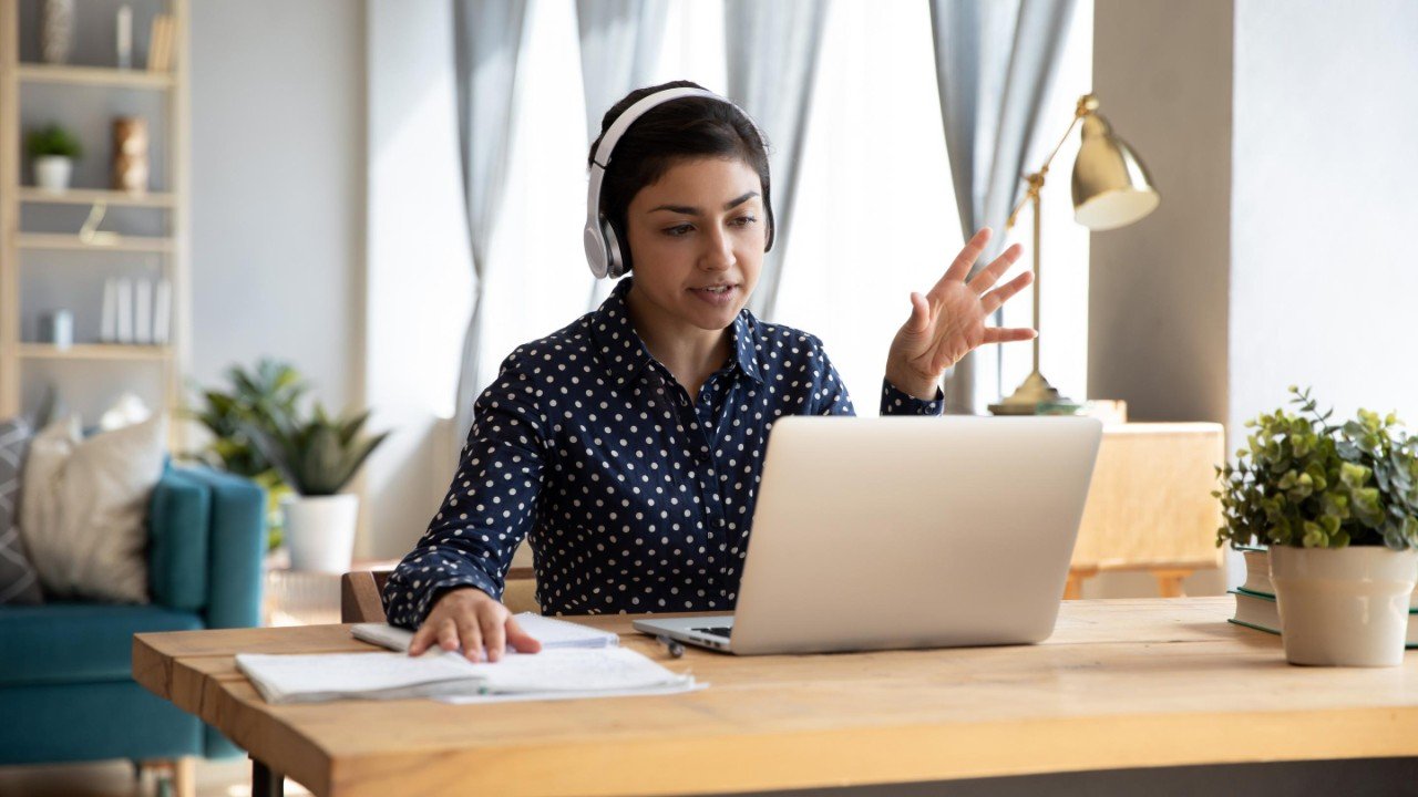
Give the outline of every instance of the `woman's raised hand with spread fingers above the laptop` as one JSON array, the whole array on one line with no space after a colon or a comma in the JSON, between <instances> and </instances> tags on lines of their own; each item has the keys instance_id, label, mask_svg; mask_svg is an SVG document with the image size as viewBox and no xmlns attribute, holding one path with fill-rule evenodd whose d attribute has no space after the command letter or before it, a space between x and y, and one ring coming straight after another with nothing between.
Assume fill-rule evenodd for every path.
<instances>
[{"instance_id":1,"label":"woman's raised hand with spread fingers above the laptop","mask_svg":"<svg viewBox=\"0 0 1418 797\"><path fill-rule=\"evenodd\" d=\"M1038 335L1028 328L986 326L990 313L1034 281L1034 272L1025 271L994 286L1020 260L1018 244L966 281L990 235L988 227L976 233L929 294L910 295L910 318L896 332L886 355L886 380L898 390L917 398L934 398L940 374L977 346L1032 340Z\"/></svg>"}]
</instances>

